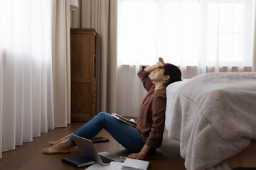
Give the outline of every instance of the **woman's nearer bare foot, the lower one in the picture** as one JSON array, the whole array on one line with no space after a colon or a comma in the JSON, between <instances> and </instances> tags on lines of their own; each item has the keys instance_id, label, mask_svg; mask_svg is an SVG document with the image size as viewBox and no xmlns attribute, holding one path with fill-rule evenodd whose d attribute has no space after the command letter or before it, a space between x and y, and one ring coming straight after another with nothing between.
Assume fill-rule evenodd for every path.
<instances>
[{"instance_id":1,"label":"woman's nearer bare foot, the lower one in the picture","mask_svg":"<svg viewBox=\"0 0 256 170\"><path fill-rule=\"evenodd\" d=\"M70 152L70 147L72 147L70 140L66 139L59 142L52 147L46 147L43 149L44 154L58 154L58 153L68 153Z\"/></svg>"}]
</instances>

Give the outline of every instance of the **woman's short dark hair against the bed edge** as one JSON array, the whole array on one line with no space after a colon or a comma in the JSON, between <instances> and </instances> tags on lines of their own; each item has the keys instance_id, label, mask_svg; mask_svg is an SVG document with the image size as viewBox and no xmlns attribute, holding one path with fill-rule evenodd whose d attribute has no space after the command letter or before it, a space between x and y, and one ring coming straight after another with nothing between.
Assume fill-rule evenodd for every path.
<instances>
[{"instance_id":1,"label":"woman's short dark hair against the bed edge","mask_svg":"<svg viewBox=\"0 0 256 170\"><path fill-rule=\"evenodd\" d=\"M166 63L164 65L164 75L169 75L170 79L166 82L166 86L176 81L181 81L181 70L174 64Z\"/></svg>"}]
</instances>

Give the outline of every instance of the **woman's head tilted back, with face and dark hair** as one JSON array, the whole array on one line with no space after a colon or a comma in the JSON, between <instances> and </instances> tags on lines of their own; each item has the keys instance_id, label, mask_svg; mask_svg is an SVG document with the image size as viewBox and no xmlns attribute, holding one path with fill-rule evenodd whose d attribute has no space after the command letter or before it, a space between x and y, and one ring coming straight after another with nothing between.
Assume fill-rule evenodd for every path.
<instances>
[{"instance_id":1,"label":"woman's head tilted back, with face and dark hair","mask_svg":"<svg viewBox=\"0 0 256 170\"><path fill-rule=\"evenodd\" d=\"M154 71L151 80L155 83L161 83L168 86L176 81L181 81L181 70L174 64L166 63L164 67L156 69Z\"/></svg>"}]
</instances>

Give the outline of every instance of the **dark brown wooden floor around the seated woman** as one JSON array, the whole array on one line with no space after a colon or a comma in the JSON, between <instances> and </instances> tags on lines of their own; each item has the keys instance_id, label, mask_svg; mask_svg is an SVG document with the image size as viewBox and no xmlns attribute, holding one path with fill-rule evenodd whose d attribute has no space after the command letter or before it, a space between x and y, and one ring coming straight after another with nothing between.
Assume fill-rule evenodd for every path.
<instances>
[{"instance_id":1,"label":"dark brown wooden floor around the seated woman","mask_svg":"<svg viewBox=\"0 0 256 170\"><path fill-rule=\"evenodd\" d=\"M71 149L69 154L43 154L42 149L48 147L48 141L58 140L60 137L78 129L82 124L81 122L77 122L68 125L67 128L49 130L48 133L42 134L41 137L34 137L33 142L26 142L12 151L3 152L3 157L0 159L0 169L76 169L73 166L61 162L61 158L80 154L77 147ZM130 154L127 149L119 145L105 130L102 130L97 136L110 139L110 142L96 144L97 152L107 151L124 157ZM185 169L183 165L184 160L178 152L178 142L167 140L166 137L166 132L164 132L163 143L161 148L156 150L156 154L146 156L145 160L149 161L149 169ZM80 169L86 169L87 167L85 166Z\"/></svg>"}]
</instances>

